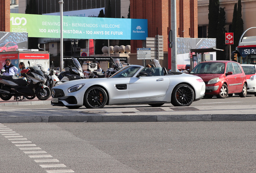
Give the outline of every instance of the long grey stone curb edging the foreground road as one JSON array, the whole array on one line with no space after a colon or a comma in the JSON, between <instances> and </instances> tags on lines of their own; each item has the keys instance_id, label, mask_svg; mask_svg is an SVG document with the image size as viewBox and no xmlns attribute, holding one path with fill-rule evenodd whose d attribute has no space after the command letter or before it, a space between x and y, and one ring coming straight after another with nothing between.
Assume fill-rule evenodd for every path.
<instances>
[{"instance_id":1,"label":"long grey stone curb edging the foreground road","mask_svg":"<svg viewBox=\"0 0 256 173\"><path fill-rule=\"evenodd\" d=\"M85 115L0 117L1 123L67 122L188 122L188 121L256 121L255 114L244 115Z\"/></svg>"}]
</instances>

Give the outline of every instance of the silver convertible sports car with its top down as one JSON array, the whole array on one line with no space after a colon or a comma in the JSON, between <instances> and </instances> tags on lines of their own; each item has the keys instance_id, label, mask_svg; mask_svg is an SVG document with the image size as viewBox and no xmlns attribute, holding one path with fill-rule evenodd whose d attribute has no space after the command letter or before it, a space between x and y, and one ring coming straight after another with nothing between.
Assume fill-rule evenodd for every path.
<instances>
[{"instance_id":1,"label":"silver convertible sports car with its top down","mask_svg":"<svg viewBox=\"0 0 256 173\"><path fill-rule=\"evenodd\" d=\"M204 96L205 84L198 76L167 72L162 67L129 65L109 78L72 80L52 88L53 106L77 109L105 105L164 103L189 106Z\"/></svg>"}]
</instances>

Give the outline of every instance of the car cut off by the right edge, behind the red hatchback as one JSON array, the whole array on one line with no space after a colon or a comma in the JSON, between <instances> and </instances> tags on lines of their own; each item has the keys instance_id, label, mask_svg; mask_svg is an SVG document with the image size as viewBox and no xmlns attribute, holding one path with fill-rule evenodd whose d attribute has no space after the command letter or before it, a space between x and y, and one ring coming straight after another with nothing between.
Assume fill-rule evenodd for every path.
<instances>
[{"instance_id":1,"label":"car cut off by the right edge, behind the red hatchback","mask_svg":"<svg viewBox=\"0 0 256 173\"><path fill-rule=\"evenodd\" d=\"M241 64L247 80L247 93L256 96L256 65L254 64Z\"/></svg>"}]
</instances>

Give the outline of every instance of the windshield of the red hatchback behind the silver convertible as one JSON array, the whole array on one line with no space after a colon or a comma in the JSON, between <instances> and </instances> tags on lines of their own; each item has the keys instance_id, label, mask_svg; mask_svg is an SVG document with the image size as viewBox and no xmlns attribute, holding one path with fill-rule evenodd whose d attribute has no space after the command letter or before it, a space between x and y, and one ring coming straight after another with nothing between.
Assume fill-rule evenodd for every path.
<instances>
[{"instance_id":1,"label":"windshield of the red hatchback behind the silver convertible","mask_svg":"<svg viewBox=\"0 0 256 173\"><path fill-rule=\"evenodd\" d=\"M224 74L225 63L223 62L203 62L195 66L190 72L192 74Z\"/></svg>"}]
</instances>

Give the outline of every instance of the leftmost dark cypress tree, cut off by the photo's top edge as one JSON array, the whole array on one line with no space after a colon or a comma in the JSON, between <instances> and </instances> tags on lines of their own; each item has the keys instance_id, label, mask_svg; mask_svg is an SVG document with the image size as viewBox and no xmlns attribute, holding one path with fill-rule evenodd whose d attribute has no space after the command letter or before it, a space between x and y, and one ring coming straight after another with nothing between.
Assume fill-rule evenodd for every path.
<instances>
[{"instance_id":1,"label":"leftmost dark cypress tree, cut off by the photo's top edge","mask_svg":"<svg viewBox=\"0 0 256 173\"><path fill-rule=\"evenodd\" d=\"M209 0L208 38L216 38L218 16L219 16L219 0Z\"/></svg>"}]
</instances>

